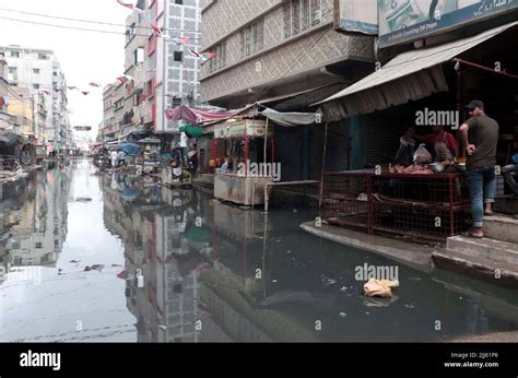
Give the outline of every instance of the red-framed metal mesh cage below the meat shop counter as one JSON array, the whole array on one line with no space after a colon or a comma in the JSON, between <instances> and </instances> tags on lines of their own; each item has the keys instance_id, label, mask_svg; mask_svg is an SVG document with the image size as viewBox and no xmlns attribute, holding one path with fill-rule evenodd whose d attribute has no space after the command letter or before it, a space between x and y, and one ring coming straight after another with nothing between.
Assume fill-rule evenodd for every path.
<instances>
[{"instance_id":1,"label":"red-framed metal mesh cage below the meat shop counter","mask_svg":"<svg viewBox=\"0 0 518 378\"><path fill-rule=\"evenodd\" d=\"M323 218L369 234L443 240L468 229L469 210L462 174L323 174Z\"/></svg>"}]
</instances>

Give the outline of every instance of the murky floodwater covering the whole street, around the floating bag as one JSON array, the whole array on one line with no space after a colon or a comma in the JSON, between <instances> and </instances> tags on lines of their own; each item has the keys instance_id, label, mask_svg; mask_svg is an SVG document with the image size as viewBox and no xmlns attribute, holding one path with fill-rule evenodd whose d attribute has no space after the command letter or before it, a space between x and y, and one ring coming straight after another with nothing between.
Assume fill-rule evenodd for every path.
<instances>
[{"instance_id":1,"label":"murky floodwater covering the whole street, around the floating bag","mask_svg":"<svg viewBox=\"0 0 518 378\"><path fill-rule=\"evenodd\" d=\"M518 293L319 239L299 228L317 216L303 203L266 215L89 161L0 194L0 341L448 341L518 330ZM398 268L391 299L363 296L364 264Z\"/></svg>"}]
</instances>

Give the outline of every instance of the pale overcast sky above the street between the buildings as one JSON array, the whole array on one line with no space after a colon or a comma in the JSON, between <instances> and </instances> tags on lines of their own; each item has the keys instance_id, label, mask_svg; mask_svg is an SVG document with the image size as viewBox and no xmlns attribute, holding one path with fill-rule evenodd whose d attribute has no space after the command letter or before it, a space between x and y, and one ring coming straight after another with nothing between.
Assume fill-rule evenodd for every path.
<instances>
[{"instance_id":1,"label":"pale overcast sky above the street between the buildings","mask_svg":"<svg viewBox=\"0 0 518 378\"><path fill-rule=\"evenodd\" d=\"M0 9L122 25L131 13L115 0L0 0ZM79 86L91 92L90 95L83 96L79 92L68 91L68 97L69 108L72 110L70 115L72 126L94 126L95 132L92 132L94 137L97 125L103 120L103 96L102 88L94 88L89 83L101 82L104 86L123 74L125 36L122 34L56 28L8 21L1 17L115 31L122 34L125 27L37 17L0 10L0 45L20 45L55 50L68 85Z\"/></svg>"}]
</instances>

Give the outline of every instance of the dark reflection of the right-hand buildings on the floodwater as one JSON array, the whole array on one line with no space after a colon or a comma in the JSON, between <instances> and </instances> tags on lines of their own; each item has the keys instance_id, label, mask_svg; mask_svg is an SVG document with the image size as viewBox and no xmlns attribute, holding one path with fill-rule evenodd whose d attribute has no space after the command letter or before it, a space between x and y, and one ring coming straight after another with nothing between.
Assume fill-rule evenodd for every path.
<instances>
[{"instance_id":1,"label":"dark reflection of the right-hand buildings on the floodwater","mask_svg":"<svg viewBox=\"0 0 518 378\"><path fill-rule=\"evenodd\" d=\"M264 215L128 177L103 182L140 342L432 341L517 329L515 293L315 238L298 228L310 211ZM399 265L392 299L363 297L354 276L364 263Z\"/></svg>"}]
</instances>

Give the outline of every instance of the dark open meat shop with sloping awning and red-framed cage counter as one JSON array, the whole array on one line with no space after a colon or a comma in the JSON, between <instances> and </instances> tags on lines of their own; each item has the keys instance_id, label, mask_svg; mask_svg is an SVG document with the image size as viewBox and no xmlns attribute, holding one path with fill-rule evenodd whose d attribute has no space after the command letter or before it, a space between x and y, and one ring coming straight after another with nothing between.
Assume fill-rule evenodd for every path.
<instances>
[{"instance_id":1,"label":"dark open meat shop with sloping awning and red-framed cage counter","mask_svg":"<svg viewBox=\"0 0 518 378\"><path fill-rule=\"evenodd\" d=\"M332 224L360 227L370 234L412 238L445 239L467 231L470 201L463 174L466 147L458 129L470 117L464 106L471 99L483 101L485 113L499 123L497 165L511 163L518 151L517 31L518 22L513 22L463 39L403 52L319 103L327 120L350 119L355 130L362 128L358 119L376 118L377 129L369 129L372 134L367 135L373 143L364 150L390 150L393 156L374 164L366 162L370 169L325 173L325 217ZM458 144L448 160L442 157L436 142L427 142L426 137L436 127L444 127L443 135L451 134ZM414 149L411 161L401 165L395 158L397 145L403 145L409 128L416 133L412 137ZM376 143L377 132L388 129L396 130L393 140L388 143L380 138ZM421 144L429 158L415 158ZM451 164L445 166L446 162ZM509 193L498 176L497 196Z\"/></svg>"}]
</instances>

